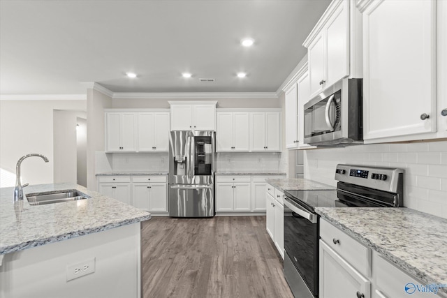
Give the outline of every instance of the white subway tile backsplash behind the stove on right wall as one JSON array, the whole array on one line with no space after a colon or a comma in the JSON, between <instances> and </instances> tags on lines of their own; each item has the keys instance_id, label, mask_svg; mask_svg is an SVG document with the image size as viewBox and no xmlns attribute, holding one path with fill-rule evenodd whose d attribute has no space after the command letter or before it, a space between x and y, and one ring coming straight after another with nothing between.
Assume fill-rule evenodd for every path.
<instances>
[{"instance_id":1,"label":"white subway tile backsplash behind the stove on right wall","mask_svg":"<svg viewBox=\"0 0 447 298\"><path fill-rule=\"evenodd\" d=\"M305 151L305 178L336 186L337 163L401 167L404 206L447 218L447 141Z\"/></svg>"}]
</instances>

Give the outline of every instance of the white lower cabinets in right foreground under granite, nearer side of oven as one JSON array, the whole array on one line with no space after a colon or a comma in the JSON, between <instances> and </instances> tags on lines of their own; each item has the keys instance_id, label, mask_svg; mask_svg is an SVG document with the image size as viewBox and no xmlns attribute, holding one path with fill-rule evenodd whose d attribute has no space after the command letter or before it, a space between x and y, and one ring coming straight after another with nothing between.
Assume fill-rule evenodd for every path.
<instances>
[{"instance_id":1,"label":"white lower cabinets in right foreground under granite, nearer side of oven","mask_svg":"<svg viewBox=\"0 0 447 298\"><path fill-rule=\"evenodd\" d=\"M446 297L418 292L424 283L321 218L320 298Z\"/></svg>"}]
</instances>

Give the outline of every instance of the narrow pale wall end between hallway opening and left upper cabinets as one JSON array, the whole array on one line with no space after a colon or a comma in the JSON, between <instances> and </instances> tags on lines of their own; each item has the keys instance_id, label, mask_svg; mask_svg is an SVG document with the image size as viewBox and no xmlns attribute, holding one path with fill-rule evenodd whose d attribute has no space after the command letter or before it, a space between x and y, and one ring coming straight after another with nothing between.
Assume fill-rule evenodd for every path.
<instances>
[{"instance_id":1,"label":"narrow pale wall end between hallway opening and left upper cabinets","mask_svg":"<svg viewBox=\"0 0 447 298\"><path fill-rule=\"evenodd\" d=\"M104 151L104 109L112 107L112 98L87 89L87 188L96 191L96 151Z\"/></svg>"}]
</instances>

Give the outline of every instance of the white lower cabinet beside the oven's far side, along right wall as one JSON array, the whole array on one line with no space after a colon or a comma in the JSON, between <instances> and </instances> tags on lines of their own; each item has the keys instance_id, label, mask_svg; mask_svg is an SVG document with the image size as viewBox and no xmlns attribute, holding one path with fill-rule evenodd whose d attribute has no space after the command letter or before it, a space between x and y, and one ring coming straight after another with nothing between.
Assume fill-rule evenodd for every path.
<instances>
[{"instance_id":1,"label":"white lower cabinet beside the oven's far side, along right wall","mask_svg":"<svg viewBox=\"0 0 447 298\"><path fill-rule=\"evenodd\" d=\"M272 195L274 193L274 195ZM270 238L284 260L284 193L268 184L265 188L266 226Z\"/></svg>"}]
</instances>

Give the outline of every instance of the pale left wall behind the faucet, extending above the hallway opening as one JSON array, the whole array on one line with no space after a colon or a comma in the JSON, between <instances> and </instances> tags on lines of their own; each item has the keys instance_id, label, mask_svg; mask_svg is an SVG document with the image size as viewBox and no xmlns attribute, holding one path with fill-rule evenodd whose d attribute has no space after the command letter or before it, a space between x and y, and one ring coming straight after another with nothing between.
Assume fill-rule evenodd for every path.
<instances>
[{"instance_id":1,"label":"pale left wall behind the faucet, extending above the hallway opening","mask_svg":"<svg viewBox=\"0 0 447 298\"><path fill-rule=\"evenodd\" d=\"M86 110L85 100L0 100L0 167L15 174L17 160L30 153L47 156L22 163L22 181L53 183L53 110ZM2 171L3 172L3 171ZM13 185L1 185L13 186Z\"/></svg>"}]
</instances>

